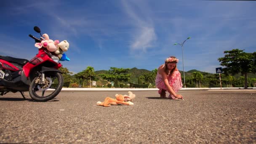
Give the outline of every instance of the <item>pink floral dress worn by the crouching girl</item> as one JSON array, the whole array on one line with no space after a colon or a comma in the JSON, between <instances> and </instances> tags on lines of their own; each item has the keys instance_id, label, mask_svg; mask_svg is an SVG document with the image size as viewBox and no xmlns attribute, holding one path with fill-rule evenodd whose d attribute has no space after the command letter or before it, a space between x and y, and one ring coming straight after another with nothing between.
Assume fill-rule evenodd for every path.
<instances>
[{"instance_id":1,"label":"pink floral dress worn by the crouching girl","mask_svg":"<svg viewBox=\"0 0 256 144\"><path fill-rule=\"evenodd\" d=\"M181 73L179 71L174 71L172 75L167 75L169 85L173 88L173 91L178 92L179 89L182 88L182 82L181 82ZM157 76L155 78L155 85L159 89L158 93L161 94L162 91L167 91L167 88L163 82L162 75L160 75L157 72ZM170 94L169 99L175 99L175 97Z\"/></svg>"}]
</instances>

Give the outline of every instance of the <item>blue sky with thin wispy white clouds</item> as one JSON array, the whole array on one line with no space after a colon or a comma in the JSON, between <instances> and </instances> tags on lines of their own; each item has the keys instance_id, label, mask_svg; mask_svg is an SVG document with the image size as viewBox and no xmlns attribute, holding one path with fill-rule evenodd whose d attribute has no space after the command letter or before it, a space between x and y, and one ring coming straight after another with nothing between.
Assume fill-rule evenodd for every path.
<instances>
[{"instance_id":1,"label":"blue sky with thin wispy white clouds","mask_svg":"<svg viewBox=\"0 0 256 144\"><path fill-rule=\"evenodd\" d=\"M0 55L32 59L29 34L67 40L69 71L110 67L153 70L168 56L184 70L215 73L219 57L234 48L256 50L256 2L221 0L3 0Z\"/></svg>"}]
</instances>

